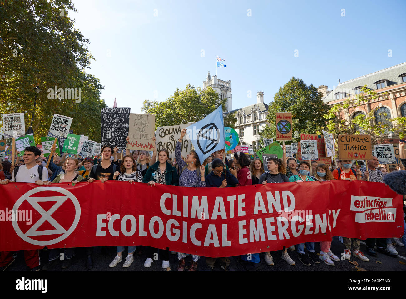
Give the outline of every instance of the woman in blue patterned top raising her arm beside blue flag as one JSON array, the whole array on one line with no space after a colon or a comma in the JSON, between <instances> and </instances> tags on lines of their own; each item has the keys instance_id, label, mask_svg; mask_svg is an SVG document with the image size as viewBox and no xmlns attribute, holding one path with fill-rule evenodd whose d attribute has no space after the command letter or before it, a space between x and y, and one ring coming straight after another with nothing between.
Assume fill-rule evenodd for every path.
<instances>
[{"instance_id":1,"label":"woman in blue patterned top raising her arm beside blue flag","mask_svg":"<svg viewBox=\"0 0 406 299\"><path fill-rule=\"evenodd\" d=\"M183 129L180 133L180 138L176 143L175 147L175 158L179 166L179 186L181 187L206 187L204 172L205 167L200 165L199 157L195 151L190 151L186 156L185 161L181 156L181 146L183 137L186 134L186 129ZM184 271L185 268L185 258L186 254L178 252L178 271ZM199 260L199 255L192 255L192 265L189 268L189 271L197 271L197 261Z\"/></svg>"}]
</instances>

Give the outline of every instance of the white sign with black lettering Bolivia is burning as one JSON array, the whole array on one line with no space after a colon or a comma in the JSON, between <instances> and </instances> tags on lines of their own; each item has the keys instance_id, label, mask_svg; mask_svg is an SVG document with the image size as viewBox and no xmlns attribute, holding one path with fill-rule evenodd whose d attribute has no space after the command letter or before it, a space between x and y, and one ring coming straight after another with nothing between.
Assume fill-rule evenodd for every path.
<instances>
[{"instance_id":1,"label":"white sign with black lettering Bolivia is burning","mask_svg":"<svg viewBox=\"0 0 406 299\"><path fill-rule=\"evenodd\" d=\"M167 148L169 151L169 157L175 158L175 146L180 138L180 132L182 129L189 127L193 122L188 124L177 124L176 126L158 127L156 128L156 149L160 151L162 148ZM192 142L190 142L189 135L185 134L181 145L181 155L186 157L192 149Z\"/></svg>"}]
</instances>

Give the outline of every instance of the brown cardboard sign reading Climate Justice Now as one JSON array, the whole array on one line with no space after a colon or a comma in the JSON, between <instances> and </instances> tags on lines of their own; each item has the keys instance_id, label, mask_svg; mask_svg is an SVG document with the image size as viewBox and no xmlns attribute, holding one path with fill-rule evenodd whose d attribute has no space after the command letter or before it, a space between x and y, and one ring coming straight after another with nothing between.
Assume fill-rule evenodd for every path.
<instances>
[{"instance_id":1,"label":"brown cardboard sign reading Climate Justice Now","mask_svg":"<svg viewBox=\"0 0 406 299\"><path fill-rule=\"evenodd\" d=\"M370 135L338 135L338 157L343 160L369 160L372 157Z\"/></svg>"}]
</instances>

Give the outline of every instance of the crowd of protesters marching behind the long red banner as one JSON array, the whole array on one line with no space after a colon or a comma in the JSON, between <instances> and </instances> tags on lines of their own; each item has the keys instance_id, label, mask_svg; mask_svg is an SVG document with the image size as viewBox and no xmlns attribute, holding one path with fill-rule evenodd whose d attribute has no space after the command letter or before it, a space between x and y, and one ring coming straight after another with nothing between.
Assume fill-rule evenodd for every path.
<instances>
[{"instance_id":1,"label":"crowd of protesters marching behind the long red banner","mask_svg":"<svg viewBox=\"0 0 406 299\"><path fill-rule=\"evenodd\" d=\"M100 180L102 183L108 180L127 181L129 183L143 182L154 188L156 184L165 184L171 186L193 187L193 188L230 188L237 186L249 186L255 184L266 185L268 183L287 183L287 182L307 182L320 181L321 183L333 180L363 180L371 182L384 182L388 173L385 165L379 165L378 158L372 157L367 160L367 165L362 161L354 163L351 160L339 160L337 165L328 166L318 164L312 161L297 161L295 158L287 158L285 155L285 146L282 159L270 157L266 161L266 170L261 159L256 158L250 161L245 153L234 153L233 159L225 158L225 151L216 151L208 157L203 163L195 151L190 151L186 157L181 156L181 142L186 129L181 131L179 140L175 147L175 159L169 158L167 149L161 149L157 152L156 145L153 154L148 151L133 151L128 149L122 159L118 159L118 149L112 146L103 146L100 154L94 159L78 157L67 157L63 153L51 155L48 159L44 158L41 150L34 146L24 149L22 157L15 157L15 166L11 166L9 161L0 161L0 184L10 182L36 183L37 185L49 186L52 183L78 183L87 181L89 183ZM155 142L155 138L153 139ZM128 142L128 139L127 139ZM406 166L405 142L399 142L400 159L402 164L397 166L397 170L404 170ZM54 150L54 148L51 148ZM48 161L49 160L49 161ZM49 167L46 164L49 162ZM397 171L395 170L395 171ZM385 181L387 183L387 181ZM406 187L404 188L406 189ZM406 192L404 192L406 193ZM406 196L405 194L403 194ZM406 226L406 223L404 223ZM406 229L406 227L404 227ZM367 256L360 251L360 240L357 238L347 238L342 236L343 253L347 260L350 260L351 254L365 262L369 262ZM330 249L331 241L320 242L320 255L315 253L315 242L305 242L296 244L296 246L286 246L282 249L282 259L289 265L295 265L294 260L289 256L287 249L297 251L298 260L306 266L312 263L319 264L320 261L329 266L334 266L334 262L340 259ZM404 247L406 245L406 231L401 239L399 238L370 238L366 240L367 255L376 257L378 253L397 258L395 246ZM375 249L376 247L376 249ZM307 253L306 253L306 251ZM93 268L93 247L86 250L85 267ZM170 268L169 254L166 249L156 249L144 246L128 246L127 257L123 262L123 267L131 266L134 261L134 253L145 254L146 260L144 266L150 267L154 262L154 255L158 253L162 260L162 268ZM71 265L71 259L75 256L75 249L51 249L49 250L48 261L41 264L39 250L25 250L24 258L26 265L31 271L39 271L41 268L46 271L51 268L63 251L65 259L61 268L68 268ZM117 246L117 255L114 256L109 267L115 267L123 261L124 246ZM377 253L378 252L378 253ZM186 268L186 258L189 254L177 254L177 270L184 271ZM275 253L274 253L275 254ZM191 266L189 271L197 271L199 255L191 255ZM241 256L247 270L255 271L261 265L259 253L247 254ZM271 252L265 252L264 259L266 264L274 265ZM4 271L15 260L15 253L0 252L0 271ZM207 267L213 269L216 258L205 258ZM230 258L220 258L220 266L228 269Z\"/></svg>"}]
</instances>

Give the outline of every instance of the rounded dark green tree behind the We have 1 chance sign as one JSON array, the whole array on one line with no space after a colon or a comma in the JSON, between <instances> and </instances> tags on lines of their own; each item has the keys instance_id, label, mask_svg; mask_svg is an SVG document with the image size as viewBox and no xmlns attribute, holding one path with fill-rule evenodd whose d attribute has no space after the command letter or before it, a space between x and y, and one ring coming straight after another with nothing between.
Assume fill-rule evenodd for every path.
<instances>
[{"instance_id":1,"label":"rounded dark green tree behind the We have 1 chance sign","mask_svg":"<svg viewBox=\"0 0 406 299\"><path fill-rule=\"evenodd\" d=\"M276 137L276 113L292 113L292 142L300 141L300 133L315 134L317 130L326 125L324 114L329 107L322 101L322 94L313 84L307 86L303 80L292 77L283 87L279 88L274 101L269 104L268 125L260 132L262 137ZM285 141L285 144L290 142Z\"/></svg>"}]
</instances>

